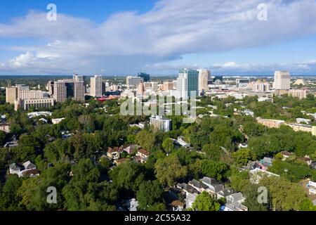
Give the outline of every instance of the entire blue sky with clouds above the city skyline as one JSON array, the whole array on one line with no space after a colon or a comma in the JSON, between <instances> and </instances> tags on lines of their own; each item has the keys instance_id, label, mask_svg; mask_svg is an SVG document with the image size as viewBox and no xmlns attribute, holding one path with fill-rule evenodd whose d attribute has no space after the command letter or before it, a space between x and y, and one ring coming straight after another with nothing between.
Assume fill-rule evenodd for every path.
<instances>
[{"instance_id":1,"label":"entire blue sky with clouds above the city skyline","mask_svg":"<svg viewBox=\"0 0 316 225\"><path fill-rule=\"evenodd\" d=\"M316 75L315 21L315 0L4 0L0 75Z\"/></svg>"}]
</instances>

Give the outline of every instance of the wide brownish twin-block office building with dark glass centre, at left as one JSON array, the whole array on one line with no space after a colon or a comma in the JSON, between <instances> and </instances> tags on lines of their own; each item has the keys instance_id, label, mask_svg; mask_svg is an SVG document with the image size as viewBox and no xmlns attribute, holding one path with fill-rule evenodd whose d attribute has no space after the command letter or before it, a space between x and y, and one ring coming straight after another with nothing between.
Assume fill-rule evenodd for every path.
<instances>
[{"instance_id":1,"label":"wide brownish twin-block office building with dark glass centre, at left","mask_svg":"<svg viewBox=\"0 0 316 225\"><path fill-rule=\"evenodd\" d=\"M85 86L82 76L74 75L73 79L60 79L54 82L54 99L64 103L67 98L84 101Z\"/></svg>"}]
</instances>

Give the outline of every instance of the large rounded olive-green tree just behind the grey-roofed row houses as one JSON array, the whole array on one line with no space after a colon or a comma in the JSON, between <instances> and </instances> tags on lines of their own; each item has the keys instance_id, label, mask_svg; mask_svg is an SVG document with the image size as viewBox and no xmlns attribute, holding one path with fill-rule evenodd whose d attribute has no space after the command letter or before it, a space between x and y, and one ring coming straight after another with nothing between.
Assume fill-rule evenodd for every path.
<instances>
[{"instance_id":1,"label":"large rounded olive-green tree just behind the grey-roofed row houses","mask_svg":"<svg viewBox=\"0 0 316 225\"><path fill-rule=\"evenodd\" d=\"M187 174L187 168L180 165L178 156L160 158L154 165L157 179L165 186L173 186Z\"/></svg>"}]
</instances>

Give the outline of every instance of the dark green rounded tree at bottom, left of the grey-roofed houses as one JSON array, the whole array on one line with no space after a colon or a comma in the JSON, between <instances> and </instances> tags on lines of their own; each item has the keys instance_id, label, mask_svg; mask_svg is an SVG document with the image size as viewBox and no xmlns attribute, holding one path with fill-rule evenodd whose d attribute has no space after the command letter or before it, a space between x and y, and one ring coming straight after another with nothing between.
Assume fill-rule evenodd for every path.
<instances>
[{"instance_id":1,"label":"dark green rounded tree at bottom, left of the grey-roofed houses","mask_svg":"<svg viewBox=\"0 0 316 225\"><path fill-rule=\"evenodd\" d=\"M162 199L162 193L163 189L158 181L145 181L140 184L139 190L137 191L137 200L140 209L146 210L148 207L159 203Z\"/></svg>"}]
</instances>

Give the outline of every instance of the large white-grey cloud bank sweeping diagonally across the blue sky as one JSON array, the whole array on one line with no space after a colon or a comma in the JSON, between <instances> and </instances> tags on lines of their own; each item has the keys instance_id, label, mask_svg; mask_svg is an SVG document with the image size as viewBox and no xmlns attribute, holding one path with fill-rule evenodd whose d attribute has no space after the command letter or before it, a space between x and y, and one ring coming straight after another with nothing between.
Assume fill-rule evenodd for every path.
<instances>
[{"instance_id":1,"label":"large white-grey cloud bank sweeping diagonally across the blue sky","mask_svg":"<svg viewBox=\"0 0 316 225\"><path fill-rule=\"evenodd\" d=\"M261 46L316 33L315 1L267 0L268 21L258 21L257 6L261 3L162 0L147 13L116 13L100 24L63 14L58 14L57 21L47 21L46 13L31 11L11 24L0 23L0 37L28 37L34 38L34 43L41 39L47 44L7 46L20 56L2 62L0 68L129 73L189 53ZM223 67L236 69L238 65Z\"/></svg>"}]
</instances>

